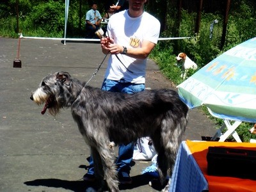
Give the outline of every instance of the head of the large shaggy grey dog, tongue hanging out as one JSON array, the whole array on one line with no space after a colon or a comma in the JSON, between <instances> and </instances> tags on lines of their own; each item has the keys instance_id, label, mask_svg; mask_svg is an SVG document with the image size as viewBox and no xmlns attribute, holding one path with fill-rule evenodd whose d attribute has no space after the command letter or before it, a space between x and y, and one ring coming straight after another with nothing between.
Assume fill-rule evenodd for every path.
<instances>
[{"instance_id":1,"label":"head of the large shaggy grey dog, tongue hanging out","mask_svg":"<svg viewBox=\"0 0 256 192\"><path fill-rule=\"evenodd\" d=\"M70 86L70 74L68 72L56 72L44 77L38 89L31 93L30 99L36 104L44 104L41 113L49 109L51 115L56 115L63 104L63 94ZM67 92L68 93L68 92Z\"/></svg>"}]
</instances>

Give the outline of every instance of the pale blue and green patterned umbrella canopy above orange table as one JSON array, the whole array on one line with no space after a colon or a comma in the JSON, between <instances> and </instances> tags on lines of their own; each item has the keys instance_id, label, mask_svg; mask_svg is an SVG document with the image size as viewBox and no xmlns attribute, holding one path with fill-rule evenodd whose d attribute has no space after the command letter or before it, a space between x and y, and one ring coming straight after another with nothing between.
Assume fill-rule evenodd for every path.
<instances>
[{"instance_id":1,"label":"pale blue and green patterned umbrella canopy above orange table","mask_svg":"<svg viewBox=\"0 0 256 192\"><path fill-rule=\"evenodd\" d=\"M217 118L256 122L256 37L224 52L177 88L191 109L205 104Z\"/></svg>"}]
</instances>

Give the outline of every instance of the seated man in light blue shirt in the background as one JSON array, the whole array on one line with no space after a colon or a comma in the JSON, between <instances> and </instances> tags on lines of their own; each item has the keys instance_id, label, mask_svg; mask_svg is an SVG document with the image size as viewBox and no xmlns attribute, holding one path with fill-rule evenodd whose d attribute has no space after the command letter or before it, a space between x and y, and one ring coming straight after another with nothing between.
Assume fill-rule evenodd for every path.
<instances>
[{"instance_id":1,"label":"seated man in light blue shirt in the background","mask_svg":"<svg viewBox=\"0 0 256 192\"><path fill-rule=\"evenodd\" d=\"M86 38L96 38L95 32L100 28L102 17L97 10L97 4L92 3L92 9L86 13Z\"/></svg>"}]
</instances>

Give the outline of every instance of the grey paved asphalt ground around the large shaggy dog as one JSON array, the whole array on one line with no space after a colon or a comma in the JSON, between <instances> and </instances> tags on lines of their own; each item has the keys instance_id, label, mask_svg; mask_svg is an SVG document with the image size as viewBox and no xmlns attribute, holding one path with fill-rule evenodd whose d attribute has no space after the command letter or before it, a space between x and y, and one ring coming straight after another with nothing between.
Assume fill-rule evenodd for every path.
<instances>
[{"instance_id":1,"label":"grey paved asphalt ground around the large shaggy dog","mask_svg":"<svg viewBox=\"0 0 256 192\"><path fill-rule=\"evenodd\" d=\"M22 39L22 68L13 68L17 57L17 39L0 38L0 191L85 191L81 179L88 165L90 150L85 145L70 109L56 118L41 115L42 106L30 99L44 76L67 71L77 79L88 81L104 58L97 43L58 40ZM106 61L91 86L100 87ZM172 83L148 61L147 87L172 88ZM214 125L197 110L189 112L184 140L201 140L213 136ZM148 186L141 170L150 161L135 161L133 184L120 186L122 191L159 191Z\"/></svg>"}]
</instances>

